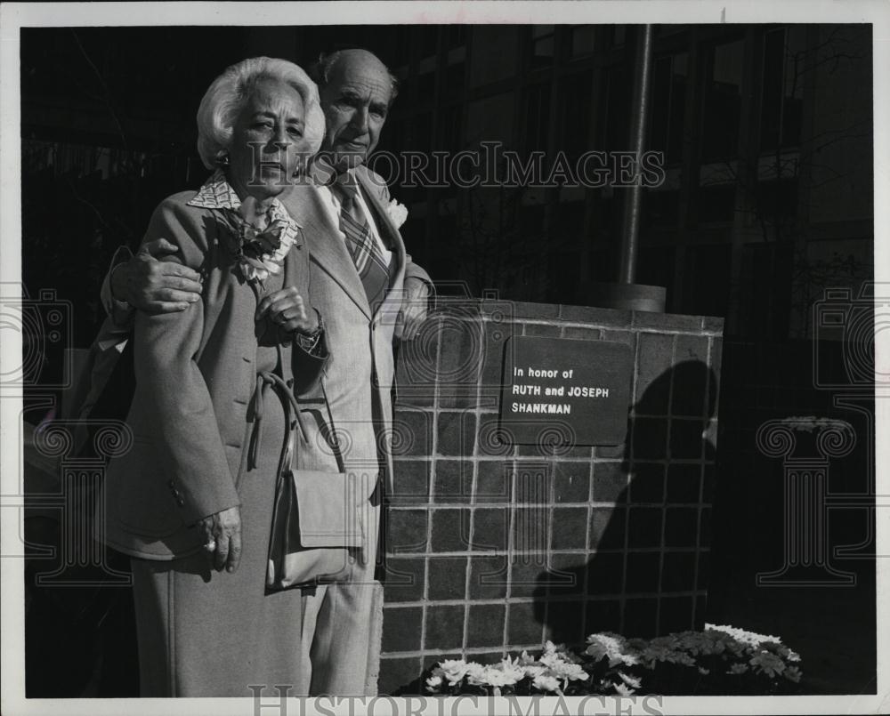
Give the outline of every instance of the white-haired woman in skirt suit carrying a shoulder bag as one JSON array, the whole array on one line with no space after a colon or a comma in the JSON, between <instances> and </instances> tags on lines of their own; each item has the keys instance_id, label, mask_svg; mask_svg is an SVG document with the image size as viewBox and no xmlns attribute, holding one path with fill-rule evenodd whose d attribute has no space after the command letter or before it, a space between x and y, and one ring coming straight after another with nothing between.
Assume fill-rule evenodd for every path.
<instances>
[{"instance_id":1,"label":"white-haired woman in skirt suit carrying a shoulder bag","mask_svg":"<svg viewBox=\"0 0 890 716\"><path fill-rule=\"evenodd\" d=\"M161 202L145 235L177 245L204 288L182 313L137 315L134 446L105 483L100 538L132 558L143 696L308 689L303 595L265 586L293 429L282 392L315 382L326 358L299 217L279 197L323 133L301 68L226 69L198 109L198 150L215 171Z\"/></svg>"}]
</instances>

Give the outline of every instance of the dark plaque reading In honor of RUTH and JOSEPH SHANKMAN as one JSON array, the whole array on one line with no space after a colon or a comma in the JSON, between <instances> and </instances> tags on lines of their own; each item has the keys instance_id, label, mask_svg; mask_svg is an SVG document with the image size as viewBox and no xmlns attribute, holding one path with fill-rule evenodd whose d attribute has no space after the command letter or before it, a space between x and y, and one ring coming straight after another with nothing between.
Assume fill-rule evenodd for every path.
<instances>
[{"instance_id":1,"label":"dark plaque reading In honor of RUTH and JOSEPH SHANKMAN","mask_svg":"<svg viewBox=\"0 0 890 716\"><path fill-rule=\"evenodd\" d=\"M634 355L626 343L514 336L506 346L500 427L521 445L620 445Z\"/></svg>"}]
</instances>

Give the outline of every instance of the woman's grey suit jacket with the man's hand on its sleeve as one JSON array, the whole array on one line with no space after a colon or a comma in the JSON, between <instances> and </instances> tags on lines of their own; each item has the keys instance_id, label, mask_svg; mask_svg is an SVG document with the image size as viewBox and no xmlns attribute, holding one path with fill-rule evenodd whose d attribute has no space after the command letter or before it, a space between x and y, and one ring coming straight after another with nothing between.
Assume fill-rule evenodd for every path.
<instances>
[{"instance_id":1,"label":"woman's grey suit jacket with the man's hand on its sleeve","mask_svg":"<svg viewBox=\"0 0 890 716\"><path fill-rule=\"evenodd\" d=\"M136 387L127 416L134 446L109 463L105 519L97 519L99 539L148 559L197 551L203 535L194 523L239 504L236 481L256 382L256 294L239 278L222 214L187 205L194 196L182 192L162 202L144 240L165 237L179 246L179 259L206 276L202 300L180 313L136 315ZM287 254L285 286L310 283L301 238ZM293 374L311 385L323 351L292 354L285 379Z\"/></svg>"}]
</instances>

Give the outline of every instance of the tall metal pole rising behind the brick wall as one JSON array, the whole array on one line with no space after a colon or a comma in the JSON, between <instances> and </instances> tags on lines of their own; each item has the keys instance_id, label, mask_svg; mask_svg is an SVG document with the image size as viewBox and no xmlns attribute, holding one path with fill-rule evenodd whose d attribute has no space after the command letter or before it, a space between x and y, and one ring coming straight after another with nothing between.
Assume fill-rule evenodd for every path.
<instances>
[{"instance_id":1,"label":"tall metal pole rising behind the brick wall","mask_svg":"<svg viewBox=\"0 0 890 716\"><path fill-rule=\"evenodd\" d=\"M631 150L637 161L643 155L649 117L650 88L652 77L652 25L636 28L636 52L634 62L634 112L630 125ZM636 280L636 260L639 253L641 204L643 187L639 177L627 190L624 205L624 227L621 237L621 263L619 283L633 284Z\"/></svg>"}]
</instances>

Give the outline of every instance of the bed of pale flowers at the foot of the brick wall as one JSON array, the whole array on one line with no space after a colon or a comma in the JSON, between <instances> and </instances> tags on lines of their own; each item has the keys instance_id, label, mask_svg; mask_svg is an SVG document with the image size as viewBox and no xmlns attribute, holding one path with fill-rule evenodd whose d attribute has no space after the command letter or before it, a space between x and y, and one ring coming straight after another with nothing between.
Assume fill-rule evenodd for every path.
<instances>
[{"instance_id":1,"label":"bed of pale flowers at the foot of the brick wall","mask_svg":"<svg viewBox=\"0 0 890 716\"><path fill-rule=\"evenodd\" d=\"M499 664L450 659L433 667L426 690L440 696L791 694L799 662L777 637L706 624L703 632L648 640L591 634L580 656L548 641L540 656L523 651Z\"/></svg>"}]
</instances>

